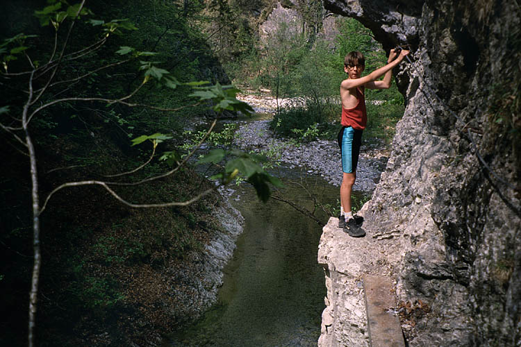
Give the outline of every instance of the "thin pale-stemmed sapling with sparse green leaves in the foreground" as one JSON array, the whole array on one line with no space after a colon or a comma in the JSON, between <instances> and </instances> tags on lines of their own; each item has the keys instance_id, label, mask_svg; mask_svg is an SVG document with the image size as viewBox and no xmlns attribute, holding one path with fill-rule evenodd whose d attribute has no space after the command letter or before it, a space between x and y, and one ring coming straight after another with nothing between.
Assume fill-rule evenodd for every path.
<instances>
[{"instance_id":1,"label":"thin pale-stemmed sapling with sparse green leaves in the foreground","mask_svg":"<svg viewBox=\"0 0 521 347\"><path fill-rule=\"evenodd\" d=\"M31 278L31 291L30 291L30 300L29 300L29 312L28 312L28 346L32 347L35 344L35 326L36 326L36 312L37 312L37 303L38 303L38 287L39 287L39 277L40 277L40 267L42 265L41 260L41 249L40 249L40 216L46 210L47 205L56 192L61 189L65 189L67 187L78 187L83 185L99 185L104 187L107 192L109 192L117 201L127 205L131 208L164 208L169 206L184 206L193 203L203 196L209 194L214 189L217 189L218 185L211 188L206 189L204 192L193 196L185 201L173 201L173 202L165 202L165 203L131 203L126 201L122 196L117 194L113 189L113 186L133 186L133 185L141 185L144 183L149 183L154 180L158 180L160 178L165 178L174 174L181 167L187 164L188 159L199 149L199 146L206 140L206 137L212 132L217 119L213 122L212 126L206 133L206 135L201 138L201 141L194 149L187 155L183 160L179 161L179 158L176 157L174 152L166 152L161 157L162 160L165 160L173 169L170 169L164 174L159 174L156 176L150 176L148 178L144 178L139 180L138 182L107 182L104 180L78 180L74 182L63 183L58 187L55 187L44 199L44 203L40 204L40 178L38 177L38 153L35 150L35 146L33 145L33 139L31 135L30 125L31 122L36 119L39 115L42 115L42 111L51 107L52 105L57 105L60 103L74 103L74 102L101 102L106 103L107 105L111 104L122 104L129 107L142 107L149 108L153 110L160 111L169 111L176 112L181 110L182 108L199 105L200 103L206 103L208 101L213 103L213 110L217 112L217 115L220 115L224 110L232 110L239 111L245 114L249 114L253 110L249 105L243 103L242 101L238 101L235 98L237 89L231 86L222 86L219 83L216 85L208 86L208 82L198 82L198 83L188 83L190 87L193 87L195 92L191 96L197 98L198 100L192 105L181 106L178 108L162 108L154 105L147 105L145 103L136 103L131 102L130 100L141 90L144 84L149 83L149 81L154 80L159 85L163 87L170 88L172 90L176 89L177 86L181 85L180 83L169 71L165 69L161 69L157 66L158 62L154 62L151 60L147 60L148 57L154 56L156 53L154 52L142 52L136 49L133 49L129 46L122 46L117 53L119 56L126 56L123 60L118 60L117 62L110 62L102 65L101 67L92 68L89 71L86 71L79 76L75 76L74 78L70 78L69 76L65 76L65 78L60 79L60 74L63 72L63 66L65 63L72 62L74 60L79 60L81 58L85 58L91 53L98 51L101 49L107 42L108 38L111 35L122 35L124 31L135 30L135 26L129 23L126 19L114 19L110 22L104 22L97 19L90 19L87 21L88 24L101 28L101 38L96 40L94 43L89 44L82 49L78 49L73 51L72 53L65 53L67 47L69 46L69 40L71 40L74 24L78 22L79 19L83 19L83 17L87 17L92 15L92 12L88 10L88 8L84 7L85 0L80 3L69 5L65 0L48 0L49 4L42 10L36 11L35 16L40 19L40 24L42 26L51 25L55 30L54 41L51 46L51 51L49 54L49 58L46 59L42 65L38 62L38 60L34 60L33 57L28 54L30 46L26 44L28 40L34 39L35 35L25 35L23 33L19 35L15 35L15 37L11 37L7 40L4 40L0 44L0 61L3 67L3 71L0 73L1 78L6 81L17 81L18 83L22 83L26 85L26 90L22 93L24 97L24 101L19 104L13 105L3 105L0 108L0 115L2 118L0 119L0 128L6 131L9 135L15 139L16 142L22 144L23 151L22 153L28 155L30 167L31 167L31 200L32 200L32 215L33 215L33 271ZM58 40L58 31L60 28L65 26L66 23L69 23L67 28L65 39L63 42L59 42ZM20 68L18 71L10 71L12 67L12 62L18 60L20 57L26 58L26 66ZM123 57L122 57L123 58ZM90 76L94 76L97 72L101 70L110 69L113 67L119 67L120 65L124 65L128 62L138 60L140 61L139 71L142 73L142 82L134 88L133 91L129 92L124 96L120 96L119 98L107 98L107 97L78 97L78 96L65 96L60 99L56 99L58 94L62 94L65 90L55 90L56 87L61 85L70 85L71 83L78 83L80 81L85 81L86 78ZM23 64L16 65L16 67L20 67ZM45 99L45 101L42 101ZM10 108L10 106L14 106ZM13 115L19 114L18 117ZM10 118L3 117L5 115L10 116ZM107 177L120 177L135 174L140 171L144 167L147 166L154 158L156 154L156 147L160 142L163 142L170 137L167 135L163 135L160 133L156 133L153 135L142 135L133 139L133 145L140 144L145 141L151 141L153 144L153 151L151 153L150 158L138 166L135 169L130 171L123 172L121 174L116 174ZM17 149L20 151L19 149ZM224 152L213 152L208 155L208 157L201 160L201 162L215 162L217 158L223 160L226 155L233 155L234 158L227 162L224 165L224 169L222 173L218 174L216 177L220 179L220 184L229 183L231 178L242 175L248 180L254 187L257 189L259 197L266 201L267 197L270 195L270 189L268 183L279 186L280 182L268 175L263 171L262 167L258 165L256 162L261 160L260 158L254 158L251 155L247 155L245 153L239 153L238 151L231 151L229 153ZM50 170L52 171L52 170ZM48 171L48 172L50 172Z\"/></svg>"}]
</instances>

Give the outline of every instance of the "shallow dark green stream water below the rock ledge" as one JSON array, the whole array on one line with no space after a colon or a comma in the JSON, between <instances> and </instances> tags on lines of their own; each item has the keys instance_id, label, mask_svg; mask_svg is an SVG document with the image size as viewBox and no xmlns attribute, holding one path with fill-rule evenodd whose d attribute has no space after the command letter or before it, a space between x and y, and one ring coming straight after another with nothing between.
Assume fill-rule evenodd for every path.
<instances>
[{"instance_id":1,"label":"shallow dark green stream water below the rock ledge","mask_svg":"<svg viewBox=\"0 0 521 347\"><path fill-rule=\"evenodd\" d=\"M335 201L338 188L321 183ZM316 346L324 309L324 271L317 264L322 228L286 203L261 203L239 188L231 203L245 217L218 302L167 346ZM299 189L285 196L313 208ZM323 217L326 220L326 217Z\"/></svg>"}]
</instances>

